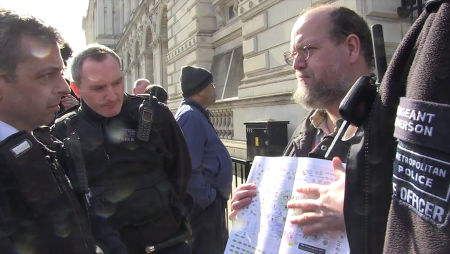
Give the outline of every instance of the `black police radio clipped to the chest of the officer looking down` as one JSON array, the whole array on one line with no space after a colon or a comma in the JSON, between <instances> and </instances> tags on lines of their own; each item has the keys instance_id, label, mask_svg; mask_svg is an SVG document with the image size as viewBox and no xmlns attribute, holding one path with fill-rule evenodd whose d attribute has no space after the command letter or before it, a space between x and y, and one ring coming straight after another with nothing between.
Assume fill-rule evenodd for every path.
<instances>
[{"instance_id":1,"label":"black police radio clipped to the chest of the officer looking down","mask_svg":"<svg viewBox=\"0 0 450 254\"><path fill-rule=\"evenodd\" d=\"M145 96L139 106L138 113L138 130L137 139L148 142L150 140L150 132L152 130L153 122L153 107L152 107L152 97Z\"/></svg>"}]
</instances>

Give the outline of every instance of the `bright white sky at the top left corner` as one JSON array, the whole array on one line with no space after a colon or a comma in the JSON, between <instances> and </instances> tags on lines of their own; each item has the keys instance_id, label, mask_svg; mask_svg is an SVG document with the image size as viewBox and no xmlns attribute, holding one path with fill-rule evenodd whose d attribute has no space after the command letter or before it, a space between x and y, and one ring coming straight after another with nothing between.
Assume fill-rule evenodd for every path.
<instances>
[{"instance_id":1,"label":"bright white sky at the top left corner","mask_svg":"<svg viewBox=\"0 0 450 254\"><path fill-rule=\"evenodd\" d=\"M82 28L89 0L0 0L0 7L31 14L55 27L76 52L86 45Z\"/></svg>"}]
</instances>

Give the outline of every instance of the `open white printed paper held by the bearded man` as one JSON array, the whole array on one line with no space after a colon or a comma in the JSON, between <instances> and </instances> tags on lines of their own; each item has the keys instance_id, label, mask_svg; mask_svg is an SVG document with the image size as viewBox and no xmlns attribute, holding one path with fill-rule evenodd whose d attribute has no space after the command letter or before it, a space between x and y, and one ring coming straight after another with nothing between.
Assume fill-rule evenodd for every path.
<instances>
[{"instance_id":1,"label":"open white printed paper held by the bearded man","mask_svg":"<svg viewBox=\"0 0 450 254\"><path fill-rule=\"evenodd\" d=\"M307 157L255 157L247 182L258 193L233 221L225 254L349 253L345 232L304 237L286 208L294 191L304 183L329 184L335 180L331 161ZM286 222L287 221L287 222Z\"/></svg>"}]
</instances>

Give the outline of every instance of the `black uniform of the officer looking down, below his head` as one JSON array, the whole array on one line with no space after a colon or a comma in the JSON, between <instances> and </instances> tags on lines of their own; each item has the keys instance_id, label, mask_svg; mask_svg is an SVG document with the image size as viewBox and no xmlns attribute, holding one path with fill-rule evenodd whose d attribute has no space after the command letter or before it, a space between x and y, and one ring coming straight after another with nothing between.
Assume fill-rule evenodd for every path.
<instances>
[{"instance_id":1,"label":"black uniform of the officer looking down, below his head","mask_svg":"<svg viewBox=\"0 0 450 254\"><path fill-rule=\"evenodd\" d=\"M192 202L186 193L191 163L183 134L170 110L154 101L150 139L138 140L142 101L124 94L121 112L110 118L82 101L76 111L57 119L53 130L61 139L78 133L89 186L98 200L94 206L120 232L130 253L144 253L147 246L185 233L186 204ZM164 251L189 253L170 249Z\"/></svg>"}]
</instances>

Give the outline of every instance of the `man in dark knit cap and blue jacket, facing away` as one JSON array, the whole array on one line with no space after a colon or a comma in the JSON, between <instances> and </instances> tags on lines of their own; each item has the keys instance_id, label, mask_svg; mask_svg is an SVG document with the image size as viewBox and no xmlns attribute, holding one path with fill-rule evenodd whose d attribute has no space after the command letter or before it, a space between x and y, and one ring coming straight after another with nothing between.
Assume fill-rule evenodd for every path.
<instances>
[{"instance_id":1,"label":"man in dark knit cap and blue jacket, facing away","mask_svg":"<svg viewBox=\"0 0 450 254\"><path fill-rule=\"evenodd\" d=\"M191 213L193 253L223 253L228 239L225 206L231 192L231 157L214 129L207 110L216 100L212 74L193 66L181 73L181 102L175 119L191 155L188 193L194 199Z\"/></svg>"}]
</instances>

